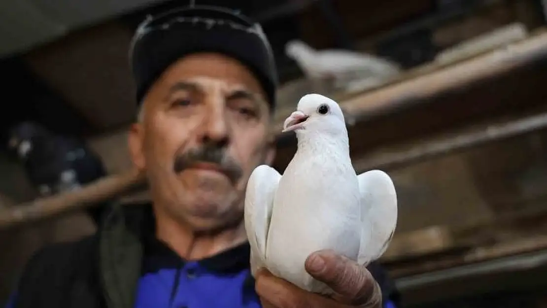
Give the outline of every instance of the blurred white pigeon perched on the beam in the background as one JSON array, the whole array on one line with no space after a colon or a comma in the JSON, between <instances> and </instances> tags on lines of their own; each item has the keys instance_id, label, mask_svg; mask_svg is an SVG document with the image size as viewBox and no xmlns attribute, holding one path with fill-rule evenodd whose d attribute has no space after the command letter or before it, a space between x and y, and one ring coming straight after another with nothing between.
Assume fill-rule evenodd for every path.
<instances>
[{"instance_id":1,"label":"blurred white pigeon perched on the beam in the background","mask_svg":"<svg viewBox=\"0 0 547 308\"><path fill-rule=\"evenodd\" d=\"M289 41L285 53L316 87L318 81L330 79L335 89L366 90L401 71L397 63L377 56L343 49L315 50L301 40Z\"/></svg>"}]
</instances>

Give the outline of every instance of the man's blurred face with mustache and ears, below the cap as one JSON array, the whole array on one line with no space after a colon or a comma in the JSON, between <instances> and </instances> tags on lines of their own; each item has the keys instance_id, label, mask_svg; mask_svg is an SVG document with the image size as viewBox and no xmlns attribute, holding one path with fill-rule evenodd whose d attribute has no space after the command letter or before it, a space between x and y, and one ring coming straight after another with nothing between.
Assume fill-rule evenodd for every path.
<instances>
[{"instance_id":1,"label":"man's blurred face with mustache and ears, below the cap","mask_svg":"<svg viewBox=\"0 0 547 308\"><path fill-rule=\"evenodd\" d=\"M230 57L189 55L166 69L130 132L156 215L203 231L242 217L251 172L273 158L264 97L254 75Z\"/></svg>"}]
</instances>

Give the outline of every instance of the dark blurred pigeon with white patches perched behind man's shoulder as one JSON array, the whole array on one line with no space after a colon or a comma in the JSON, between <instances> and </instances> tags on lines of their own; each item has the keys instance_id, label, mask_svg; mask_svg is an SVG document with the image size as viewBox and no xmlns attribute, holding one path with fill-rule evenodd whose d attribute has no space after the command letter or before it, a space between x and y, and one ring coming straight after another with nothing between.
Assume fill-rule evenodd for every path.
<instances>
[{"instance_id":1,"label":"dark blurred pigeon with white patches perched behind man's shoulder","mask_svg":"<svg viewBox=\"0 0 547 308\"><path fill-rule=\"evenodd\" d=\"M78 189L106 175L100 157L82 141L55 135L32 121L11 127L8 149L24 164L28 179L42 196ZM88 209L96 224L107 206Z\"/></svg>"}]
</instances>

